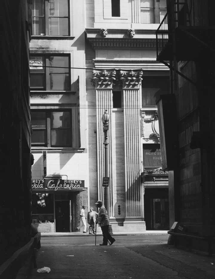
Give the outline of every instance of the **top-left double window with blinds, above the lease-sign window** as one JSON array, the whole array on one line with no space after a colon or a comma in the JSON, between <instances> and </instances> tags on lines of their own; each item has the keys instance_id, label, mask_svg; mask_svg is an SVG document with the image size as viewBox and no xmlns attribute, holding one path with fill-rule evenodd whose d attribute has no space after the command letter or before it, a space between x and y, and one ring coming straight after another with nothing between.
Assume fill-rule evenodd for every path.
<instances>
[{"instance_id":1,"label":"top-left double window with blinds, above the lease-sign window","mask_svg":"<svg viewBox=\"0 0 215 279\"><path fill-rule=\"evenodd\" d=\"M36 36L68 36L68 0L33 0L32 31Z\"/></svg>"}]
</instances>

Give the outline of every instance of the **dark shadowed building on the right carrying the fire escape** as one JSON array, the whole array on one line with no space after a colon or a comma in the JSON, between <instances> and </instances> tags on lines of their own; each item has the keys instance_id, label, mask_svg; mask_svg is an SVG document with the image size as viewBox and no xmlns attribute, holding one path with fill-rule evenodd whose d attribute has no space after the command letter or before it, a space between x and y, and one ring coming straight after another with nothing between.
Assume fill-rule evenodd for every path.
<instances>
[{"instance_id":1,"label":"dark shadowed building on the right carrying the fire escape","mask_svg":"<svg viewBox=\"0 0 215 279\"><path fill-rule=\"evenodd\" d=\"M193 236L190 244L212 254L214 3L167 1L167 5L156 34L157 60L168 64L171 80L171 94L157 97L162 163L169 170L170 219L181 225L180 232ZM176 227L171 234L177 232ZM186 237L180 240L185 244Z\"/></svg>"}]
</instances>

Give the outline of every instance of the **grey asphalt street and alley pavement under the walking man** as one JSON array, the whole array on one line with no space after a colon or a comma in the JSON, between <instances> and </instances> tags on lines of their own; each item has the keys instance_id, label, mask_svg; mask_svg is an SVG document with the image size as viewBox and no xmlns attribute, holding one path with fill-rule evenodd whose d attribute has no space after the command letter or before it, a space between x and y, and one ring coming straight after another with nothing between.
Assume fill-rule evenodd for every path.
<instances>
[{"instance_id":1,"label":"grey asphalt street and alley pavement under the walking man","mask_svg":"<svg viewBox=\"0 0 215 279\"><path fill-rule=\"evenodd\" d=\"M41 238L37 268L29 262L16 279L215 279L215 256L167 244L168 234L114 235L111 246L99 246L102 236L76 235Z\"/></svg>"}]
</instances>

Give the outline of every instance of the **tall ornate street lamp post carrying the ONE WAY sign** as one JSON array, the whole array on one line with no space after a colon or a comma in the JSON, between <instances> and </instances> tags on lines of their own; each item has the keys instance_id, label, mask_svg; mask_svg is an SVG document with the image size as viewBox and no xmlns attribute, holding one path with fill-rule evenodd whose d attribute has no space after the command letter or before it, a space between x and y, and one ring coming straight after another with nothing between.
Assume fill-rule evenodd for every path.
<instances>
[{"instance_id":1,"label":"tall ornate street lamp post carrying the ONE WAY sign","mask_svg":"<svg viewBox=\"0 0 215 279\"><path fill-rule=\"evenodd\" d=\"M103 122L103 131L104 131L104 147L105 147L105 177L108 177L108 127L109 127L109 118L110 115L107 113L107 109L105 113L102 115ZM109 198L109 189L108 186L105 187L105 208L108 212L108 218L110 219L110 198Z\"/></svg>"}]
</instances>

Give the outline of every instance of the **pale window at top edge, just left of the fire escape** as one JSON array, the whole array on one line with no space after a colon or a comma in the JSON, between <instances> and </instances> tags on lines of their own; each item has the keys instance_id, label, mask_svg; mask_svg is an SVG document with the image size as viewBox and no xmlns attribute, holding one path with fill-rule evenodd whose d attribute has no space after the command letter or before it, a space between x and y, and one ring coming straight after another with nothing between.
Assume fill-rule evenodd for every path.
<instances>
[{"instance_id":1,"label":"pale window at top edge, just left of the fire escape","mask_svg":"<svg viewBox=\"0 0 215 279\"><path fill-rule=\"evenodd\" d=\"M167 8L166 0L141 0L141 23L160 23Z\"/></svg>"}]
</instances>

